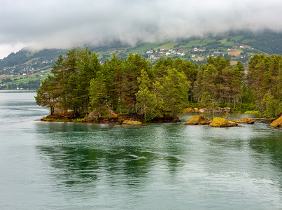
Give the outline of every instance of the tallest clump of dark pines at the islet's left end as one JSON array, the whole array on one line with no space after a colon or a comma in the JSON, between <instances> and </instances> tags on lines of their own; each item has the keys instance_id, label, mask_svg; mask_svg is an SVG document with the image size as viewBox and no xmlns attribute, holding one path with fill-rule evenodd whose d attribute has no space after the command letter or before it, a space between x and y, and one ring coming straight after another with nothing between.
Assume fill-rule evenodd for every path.
<instances>
[{"instance_id":1,"label":"tallest clump of dark pines at the islet's left end","mask_svg":"<svg viewBox=\"0 0 282 210\"><path fill-rule=\"evenodd\" d=\"M62 109L64 113L71 110L76 116L80 116L83 112L87 113L90 80L94 78L94 71L99 68L100 64L96 55L92 55L86 47L78 51L69 50L66 57L60 55L52 66L53 76L48 78L48 83L52 85L57 109ZM42 85L38 92L45 89Z\"/></svg>"}]
</instances>

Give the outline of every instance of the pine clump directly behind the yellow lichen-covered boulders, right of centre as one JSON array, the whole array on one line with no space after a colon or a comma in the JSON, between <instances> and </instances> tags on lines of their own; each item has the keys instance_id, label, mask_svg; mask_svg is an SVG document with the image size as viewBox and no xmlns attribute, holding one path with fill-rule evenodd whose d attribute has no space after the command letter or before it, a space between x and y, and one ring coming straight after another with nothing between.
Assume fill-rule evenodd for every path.
<instances>
[{"instance_id":1,"label":"pine clump directly behind the yellow lichen-covered boulders, right of centre","mask_svg":"<svg viewBox=\"0 0 282 210\"><path fill-rule=\"evenodd\" d=\"M202 64L195 81L195 98L204 106L218 106L233 102L241 102L241 87L244 79L244 66L237 62L235 66L229 59L223 57L209 57L206 64ZM204 104L203 104L204 103Z\"/></svg>"}]
</instances>

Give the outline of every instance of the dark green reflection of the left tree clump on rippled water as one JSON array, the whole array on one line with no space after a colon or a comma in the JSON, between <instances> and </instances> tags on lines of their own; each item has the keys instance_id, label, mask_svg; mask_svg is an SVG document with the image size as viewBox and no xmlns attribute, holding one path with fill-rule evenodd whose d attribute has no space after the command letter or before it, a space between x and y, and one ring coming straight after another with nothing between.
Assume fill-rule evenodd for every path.
<instances>
[{"instance_id":1,"label":"dark green reflection of the left tree clump on rippled water","mask_svg":"<svg viewBox=\"0 0 282 210\"><path fill-rule=\"evenodd\" d=\"M102 174L113 182L131 186L141 183L150 168L159 164L158 161L169 173L183 164L179 156L184 148L175 141L178 135L171 130L171 138L164 138L168 130L160 125L151 127L156 132L155 137L148 133L147 127L36 125L41 133L38 135L41 144L36 148L48 164L62 171L56 172L56 176L68 185L92 182Z\"/></svg>"}]
</instances>

